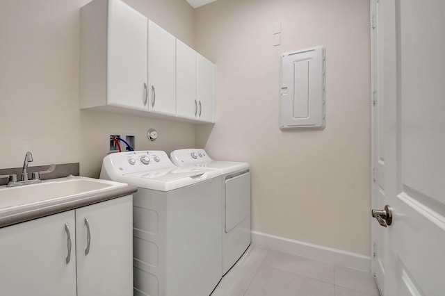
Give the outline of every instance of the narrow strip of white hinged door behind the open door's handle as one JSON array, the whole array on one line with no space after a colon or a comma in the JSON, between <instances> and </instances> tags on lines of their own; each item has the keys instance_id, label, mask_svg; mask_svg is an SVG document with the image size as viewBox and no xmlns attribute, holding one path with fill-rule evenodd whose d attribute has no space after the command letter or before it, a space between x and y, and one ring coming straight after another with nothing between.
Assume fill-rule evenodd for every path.
<instances>
[{"instance_id":1,"label":"narrow strip of white hinged door behind the open door's handle","mask_svg":"<svg viewBox=\"0 0 445 296\"><path fill-rule=\"evenodd\" d=\"M372 106L372 208L384 208L385 200L385 154L384 154L384 97L383 85L383 40L380 34L380 1L371 0L371 106ZM385 228L377 222L371 223L371 272L380 290L385 287Z\"/></svg>"}]
</instances>

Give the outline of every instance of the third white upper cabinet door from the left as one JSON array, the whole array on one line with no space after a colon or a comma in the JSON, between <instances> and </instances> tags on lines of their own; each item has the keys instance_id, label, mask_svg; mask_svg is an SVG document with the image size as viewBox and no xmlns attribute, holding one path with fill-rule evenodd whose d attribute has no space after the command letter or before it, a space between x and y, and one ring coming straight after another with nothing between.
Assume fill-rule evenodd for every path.
<instances>
[{"instance_id":1,"label":"third white upper cabinet door from the left","mask_svg":"<svg viewBox=\"0 0 445 296\"><path fill-rule=\"evenodd\" d=\"M176 40L176 108L177 116L197 119L196 51Z\"/></svg>"}]
</instances>

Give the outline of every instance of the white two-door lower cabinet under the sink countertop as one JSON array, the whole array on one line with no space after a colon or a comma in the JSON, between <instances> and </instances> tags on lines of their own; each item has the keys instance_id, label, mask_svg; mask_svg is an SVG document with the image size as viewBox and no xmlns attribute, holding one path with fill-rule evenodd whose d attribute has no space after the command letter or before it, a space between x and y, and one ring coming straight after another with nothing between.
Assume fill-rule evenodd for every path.
<instances>
[{"instance_id":1,"label":"white two-door lower cabinet under the sink countertop","mask_svg":"<svg viewBox=\"0 0 445 296\"><path fill-rule=\"evenodd\" d=\"M0 294L133 295L132 196L0 229Z\"/></svg>"}]
</instances>

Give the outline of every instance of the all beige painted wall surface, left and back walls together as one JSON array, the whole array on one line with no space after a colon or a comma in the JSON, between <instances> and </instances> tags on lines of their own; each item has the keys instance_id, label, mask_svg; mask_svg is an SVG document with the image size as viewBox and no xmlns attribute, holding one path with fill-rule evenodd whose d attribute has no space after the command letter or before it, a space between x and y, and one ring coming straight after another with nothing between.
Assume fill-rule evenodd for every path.
<instances>
[{"instance_id":1,"label":"all beige painted wall surface, left and back walls together","mask_svg":"<svg viewBox=\"0 0 445 296\"><path fill-rule=\"evenodd\" d=\"M216 63L217 124L196 129L79 110L79 8L88 2L0 2L0 167L22 165L30 150L33 165L80 162L82 175L98 176L114 131L136 134L138 149L205 147L251 163L255 231L369 255L367 0L219 0L195 12L185 0L126 0ZM280 54L314 45L327 49L326 129L280 131Z\"/></svg>"}]
</instances>

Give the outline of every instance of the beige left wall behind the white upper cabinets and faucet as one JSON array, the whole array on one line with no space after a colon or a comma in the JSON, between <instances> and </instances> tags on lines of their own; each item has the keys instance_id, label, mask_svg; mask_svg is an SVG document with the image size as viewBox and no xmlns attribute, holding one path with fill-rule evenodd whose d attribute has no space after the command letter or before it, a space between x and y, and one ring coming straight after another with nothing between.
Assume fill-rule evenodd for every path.
<instances>
[{"instance_id":1,"label":"beige left wall behind the white upper cabinets and faucet","mask_svg":"<svg viewBox=\"0 0 445 296\"><path fill-rule=\"evenodd\" d=\"M80 8L89 0L0 1L0 167L80 162L99 176L108 132L134 133L137 149L193 147L192 124L79 110ZM127 0L184 42L194 42L186 0ZM159 132L147 140L147 129Z\"/></svg>"}]
</instances>

